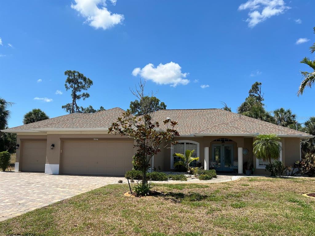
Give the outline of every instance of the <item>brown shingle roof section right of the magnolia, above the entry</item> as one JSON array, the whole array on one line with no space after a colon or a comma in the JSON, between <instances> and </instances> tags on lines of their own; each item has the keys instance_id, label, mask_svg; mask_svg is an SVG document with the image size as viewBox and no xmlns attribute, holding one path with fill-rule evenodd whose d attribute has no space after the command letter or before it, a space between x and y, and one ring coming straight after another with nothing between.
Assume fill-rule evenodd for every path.
<instances>
[{"instance_id":1,"label":"brown shingle roof section right of the magnolia, above the entry","mask_svg":"<svg viewBox=\"0 0 315 236\"><path fill-rule=\"evenodd\" d=\"M180 135L211 134L277 134L310 136L307 133L278 126L248 116L222 109L159 110L153 115L166 128L163 121L169 117L178 122L176 130Z\"/></svg>"}]
</instances>

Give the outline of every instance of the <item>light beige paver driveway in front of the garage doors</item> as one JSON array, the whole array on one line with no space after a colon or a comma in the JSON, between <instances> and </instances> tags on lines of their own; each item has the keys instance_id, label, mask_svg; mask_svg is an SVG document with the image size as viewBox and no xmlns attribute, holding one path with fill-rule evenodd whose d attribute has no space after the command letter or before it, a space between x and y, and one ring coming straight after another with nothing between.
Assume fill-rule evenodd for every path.
<instances>
[{"instance_id":1,"label":"light beige paver driveway in front of the garage doors","mask_svg":"<svg viewBox=\"0 0 315 236\"><path fill-rule=\"evenodd\" d=\"M82 194L123 177L0 172L0 221Z\"/></svg>"}]
</instances>

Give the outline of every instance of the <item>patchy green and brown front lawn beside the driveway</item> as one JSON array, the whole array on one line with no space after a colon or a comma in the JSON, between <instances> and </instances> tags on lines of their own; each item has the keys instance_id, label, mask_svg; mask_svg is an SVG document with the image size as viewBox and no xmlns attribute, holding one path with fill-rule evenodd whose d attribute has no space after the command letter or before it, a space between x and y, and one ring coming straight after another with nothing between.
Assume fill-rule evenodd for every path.
<instances>
[{"instance_id":1,"label":"patchy green and brown front lawn beside the driveway","mask_svg":"<svg viewBox=\"0 0 315 236\"><path fill-rule=\"evenodd\" d=\"M0 235L315 235L315 179L243 178L159 184L158 198L128 198L128 185L95 189L0 222Z\"/></svg>"}]
</instances>

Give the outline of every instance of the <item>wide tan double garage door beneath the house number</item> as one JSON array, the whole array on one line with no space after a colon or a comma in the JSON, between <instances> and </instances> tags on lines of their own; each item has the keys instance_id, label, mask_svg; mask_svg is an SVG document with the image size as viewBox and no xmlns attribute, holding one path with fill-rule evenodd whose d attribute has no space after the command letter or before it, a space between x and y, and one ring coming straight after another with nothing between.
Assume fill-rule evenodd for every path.
<instances>
[{"instance_id":1,"label":"wide tan double garage door beneath the house number","mask_svg":"<svg viewBox=\"0 0 315 236\"><path fill-rule=\"evenodd\" d=\"M132 169L133 141L64 141L63 174L124 175Z\"/></svg>"}]
</instances>

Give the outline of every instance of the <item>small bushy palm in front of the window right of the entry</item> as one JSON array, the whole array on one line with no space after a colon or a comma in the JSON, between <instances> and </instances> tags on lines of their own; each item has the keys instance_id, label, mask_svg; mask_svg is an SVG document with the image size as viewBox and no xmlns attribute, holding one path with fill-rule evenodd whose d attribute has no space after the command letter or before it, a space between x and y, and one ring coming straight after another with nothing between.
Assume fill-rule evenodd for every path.
<instances>
[{"instance_id":1,"label":"small bushy palm in front of the window right of the entry","mask_svg":"<svg viewBox=\"0 0 315 236\"><path fill-rule=\"evenodd\" d=\"M280 138L275 134L260 134L255 137L254 155L260 160L268 160L271 165L271 160L277 160L280 154ZM271 173L273 176L274 173Z\"/></svg>"}]
</instances>

